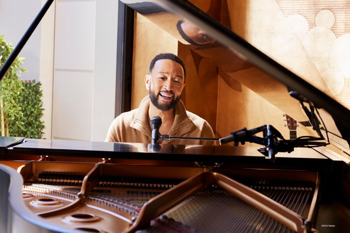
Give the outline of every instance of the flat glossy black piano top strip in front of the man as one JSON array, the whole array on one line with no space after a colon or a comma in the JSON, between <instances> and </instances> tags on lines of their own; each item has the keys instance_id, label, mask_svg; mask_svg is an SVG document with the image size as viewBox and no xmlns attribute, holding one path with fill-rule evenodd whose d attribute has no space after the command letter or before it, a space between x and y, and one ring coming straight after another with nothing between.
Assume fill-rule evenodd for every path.
<instances>
[{"instance_id":1,"label":"flat glossy black piano top strip in front of the man","mask_svg":"<svg viewBox=\"0 0 350 233\"><path fill-rule=\"evenodd\" d=\"M257 148L229 147L229 146L200 146L200 145L172 145L172 144L143 144L117 142L90 142L70 140L25 139L24 143L13 147L12 152L42 153L54 155L83 154L84 156L111 158L143 158L166 157L173 154L174 158L184 159L188 155L198 156L247 156L265 158ZM140 153L139 156L136 154ZM130 156L132 154L133 156Z\"/></svg>"}]
</instances>

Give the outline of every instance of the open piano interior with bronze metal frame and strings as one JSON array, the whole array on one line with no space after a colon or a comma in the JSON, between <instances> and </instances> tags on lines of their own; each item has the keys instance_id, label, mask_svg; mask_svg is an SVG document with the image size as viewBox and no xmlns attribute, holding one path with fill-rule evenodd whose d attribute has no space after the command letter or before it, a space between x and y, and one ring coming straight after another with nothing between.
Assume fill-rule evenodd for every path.
<instances>
[{"instance_id":1,"label":"open piano interior with bronze metal frame and strings","mask_svg":"<svg viewBox=\"0 0 350 233\"><path fill-rule=\"evenodd\" d=\"M18 172L33 214L88 232L304 232L319 202L310 171L31 161Z\"/></svg>"}]
</instances>

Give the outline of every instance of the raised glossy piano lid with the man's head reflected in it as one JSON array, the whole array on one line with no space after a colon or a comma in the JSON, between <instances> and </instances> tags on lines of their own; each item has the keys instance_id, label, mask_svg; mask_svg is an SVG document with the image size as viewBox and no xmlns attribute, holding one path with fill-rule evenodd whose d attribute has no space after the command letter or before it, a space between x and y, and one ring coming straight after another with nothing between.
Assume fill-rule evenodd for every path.
<instances>
[{"instance_id":1,"label":"raised glossy piano lid with the man's head reflected in it","mask_svg":"<svg viewBox=\"0 0 350 233\"><path fill-rule=\"evenodd\" d=\"M198 9L191 1L122 0L122 2L173 35L191 50L208 58L221 71L227 73L227 79L234 73L234 79L287 115L297 121L309 120L318 134L321 134L316 123L319 120L315 120L315 116L306 117L300 111L300 103L306 100L315 108L325 109L333 117L331 120L335 121L343 138L349 142L347 132L350 132L350 125L346 123L350 120L348 108L334 100L324 90L306 82L308 79L305 77L299 77L285 65L281 65L252 46L238 34ZM188 33L189 30L192 30L192 33ZM202 38L202 41L193 33L199 31L205 38L204 40ZM249 78L247 74L250 75ZM293 93L293 97L290 92Z\"/></svg>"}]
</instances>

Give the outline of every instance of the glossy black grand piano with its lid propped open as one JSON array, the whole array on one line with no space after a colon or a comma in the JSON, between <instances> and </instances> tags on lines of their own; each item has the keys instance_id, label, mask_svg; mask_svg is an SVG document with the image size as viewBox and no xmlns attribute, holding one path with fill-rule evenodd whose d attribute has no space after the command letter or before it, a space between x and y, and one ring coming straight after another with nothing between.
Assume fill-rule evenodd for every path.
<instances>
[{"instance_id":1,"label":"glossy black grand piano with its lid propped open","mask_svg":"<svg viewBox=\"0 0 350 233\"><path fill-rule=\"evenodd\" d=\"M224 121L217 146L0 137L2 232L350 229L347 107L201 4L122 2L210 61L224 83L240 83L283 110L288 130L298 124L304 134L287 138L266 122L221 135Z\"/></svg>"}]
</instances>

